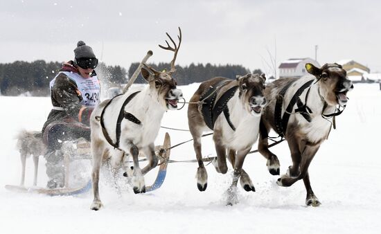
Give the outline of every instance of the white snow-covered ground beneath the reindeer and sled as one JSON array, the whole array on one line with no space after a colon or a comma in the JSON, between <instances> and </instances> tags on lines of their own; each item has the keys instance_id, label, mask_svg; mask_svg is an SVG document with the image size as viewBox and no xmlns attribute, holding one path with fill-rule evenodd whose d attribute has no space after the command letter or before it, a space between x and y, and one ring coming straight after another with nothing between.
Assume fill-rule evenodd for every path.
<instances>
[{"instance_id":1,"label":"white snow-covered ground beneath the reindeer and sled","mask_svg":"<svg viewBox=\"0 0 381 234\"><path fill-rule=\"evenodd\" d=\"M188 100L197 85L181 87ZM105 207L90 210L91 192L78 197L47 197L10 192L6 184L19 183L21 162L14 136L19 129L39 130L50 109L49 98L0 96L0 232L1 233L380 233L381 91L378 84L356 84L337 129L310 166L310 179L322 205L306 207L305 188L299 181L290 188L276 179L260 154L250 154L244 168L256 192L239 190L240 203L225 206L228 174L207 166L206 192L197 190L196 163L173 163L163 186L145 195L130 188L118 196L101 177L100 198ZM168 111L163 126L187 129L186 108ZM163 130L157 144L163 141ZM169 131L172 144L191 138L188 132ZM256 149L256 144L253 149ZM290 165L286 143L273 148L281 174ZM203 154L214 156L211 138L203 140ZM172 150L175 160L194 159L191 143ZM45 161L39 162L38 186L46 184ZM33 183L33 162L27 159L26 185ZM146 176L152 182L155 172Z\"/></svg>"}]
</instances>

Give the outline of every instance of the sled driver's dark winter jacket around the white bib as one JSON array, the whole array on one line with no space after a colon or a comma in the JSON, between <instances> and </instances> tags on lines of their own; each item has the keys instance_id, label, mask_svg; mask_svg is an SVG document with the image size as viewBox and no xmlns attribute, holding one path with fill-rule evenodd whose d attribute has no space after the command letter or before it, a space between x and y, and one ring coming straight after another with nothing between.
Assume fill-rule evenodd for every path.
<instances>
[{"instance_id":1,"label":"sled driver's dark winter jacket around the white bib","mask_svg":"<svg viewBox=\"0 0 381 234\"><path fill-rule=\"evenodd\" d=\"M60 71L79 73L78 69L73 66L73 61L64 63ZM91 76L94 75L96 75L95 71L93 71ZM53 109L49 113L44 127L42 127L42 132L44 133L48 124L57 120L63 121L70 119L89 125L89 118L94 107L81 105L83 98L76 82L71 80L64 73L59 73L55 77L55 82L51 88ZM98 97L96 97L94 102L98 103Z\"/></svg>"}]
</instances>

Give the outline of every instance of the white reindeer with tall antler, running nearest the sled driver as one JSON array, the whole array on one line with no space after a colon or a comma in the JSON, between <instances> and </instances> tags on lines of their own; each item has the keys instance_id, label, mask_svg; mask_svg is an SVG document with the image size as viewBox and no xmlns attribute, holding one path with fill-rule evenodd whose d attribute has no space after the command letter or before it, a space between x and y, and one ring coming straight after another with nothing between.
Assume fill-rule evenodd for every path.
<instances>
[{"instance_id":1,"label":"white reindeer with tall antler, running nearest the sled driver","mask_svg":"<svg viewBox=\"0 0 381 234\"><path fill-rule=\"evenodd\" d=\"M132 156L134 167L131 183L135 193L145 192L143 175L157 166L154 139L159 132L161 118L168 109L177 109L177 102L183 96L181 90L176 87L177 82L172 78L172 73L176 71L175 61L181 44L181 29L179 28L177 36L178 46L170 35L168 37L174 48L167 41L167 47L159 46L175 53L170 62L170 71L155 71L152 67L144 65L141 75L148 82L145 89L139 92L127 91L121 96L116 96L112 102L105 100L91 114L94 189L92 210L98 210L103 206L98 192L99 170L103 160L109 158L112 168L123 168L127 172L128 158ZM113 147L122 153L110 154ZM139 153L148 158L148 165L143 169L139 166Z\"/></svg>"}]
</instances>

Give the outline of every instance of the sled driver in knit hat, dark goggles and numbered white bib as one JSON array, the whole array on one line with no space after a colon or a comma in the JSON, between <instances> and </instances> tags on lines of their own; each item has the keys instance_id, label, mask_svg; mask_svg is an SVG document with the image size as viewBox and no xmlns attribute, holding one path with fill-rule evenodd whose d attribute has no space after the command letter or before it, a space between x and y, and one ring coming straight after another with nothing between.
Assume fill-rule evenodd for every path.
<instances>
[{"instance_id":1,"label":"sled driver in knit hat, dark goggles and numbered white bib","mask_svg":"<svg viewBox=\"0 0 381 234\"><path fill-rule=\"evenodd\" d=\"M98 59L90 46L79 41L74 60L63 64L51 80L51 109L42 128L48 145L45 155L48 188L64 186L62 143L80 137L90 141L89 118L99 102L100 84L94 69Z\"/></svg>"}]
</instances>

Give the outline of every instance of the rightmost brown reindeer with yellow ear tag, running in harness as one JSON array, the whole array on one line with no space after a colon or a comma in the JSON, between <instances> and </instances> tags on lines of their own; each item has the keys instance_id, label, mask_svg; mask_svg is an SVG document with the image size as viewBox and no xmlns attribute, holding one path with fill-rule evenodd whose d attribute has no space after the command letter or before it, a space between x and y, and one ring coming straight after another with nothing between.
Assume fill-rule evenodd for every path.
<instances>
[{"instance_id":1,"label":"rightmost brown reindeer with yellow ear tag, running in harness","mask_svg":"<svg viewBox=\"0 0 381 234\"><path fill-rule=\"evenodd\" d=\"M331 126L335 128L334 118L344 110L337 109L337 105L346 106L346 93L353 89L353 84L339 64L324 64L319 69L308 63L305 69L311 75L278 79L267 85L265 97L269 104L263 110L258 151L267 159L269 170L276 168L278 172L279 161L268 149L267 134L272 128L283 136L290 148L292 165L276 183L287 187L303 179L305 204L319 206L310 185L308 166L328 138Z\"/></svg>"}]
</instances>

